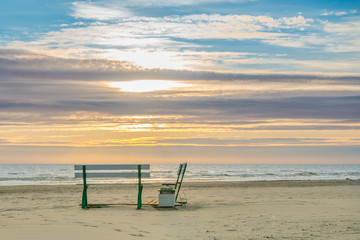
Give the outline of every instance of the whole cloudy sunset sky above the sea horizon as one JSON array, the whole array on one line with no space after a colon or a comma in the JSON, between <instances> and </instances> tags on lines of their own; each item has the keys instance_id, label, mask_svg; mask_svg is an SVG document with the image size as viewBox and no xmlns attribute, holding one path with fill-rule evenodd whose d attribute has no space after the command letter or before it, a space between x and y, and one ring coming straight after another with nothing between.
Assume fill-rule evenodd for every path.
<instances>
[{"instance_id":1,"label":"whole cloudy sunset sky above the sea horizon","mask_svg":"<svg viewBox=\"0 0 360 240\"><path fill-rule=\"evenodd\" d=\"M0 163L360 164L360 2L2 0Z\"/></svg>"}]
</instances>

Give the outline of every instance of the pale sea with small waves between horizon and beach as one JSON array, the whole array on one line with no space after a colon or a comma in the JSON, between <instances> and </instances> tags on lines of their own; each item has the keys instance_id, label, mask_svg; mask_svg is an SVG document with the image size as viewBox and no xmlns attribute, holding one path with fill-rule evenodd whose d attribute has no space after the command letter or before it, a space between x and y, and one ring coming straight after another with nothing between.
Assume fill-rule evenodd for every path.
<instances>
[{"instance_id":1,"label":"pale sea with small waves between horizon and beach","mask_svg":"<svg viewBox=\"0 0 360 240\"><path fill-rule=\"evenodd\" d=\"M151 164L150 178L144 182L173 182L178 164ZM70 164L1 164L0 185L72 185L74 165ZM360 179L360 164L188 164L184 182L274 181ZM99 180L101 183L101 179ZM104 180L105 181L105 180ZM129 179L117 179L128 183ZM137 181L134 179L134 181Z\"/></svg>"}]
</instances>

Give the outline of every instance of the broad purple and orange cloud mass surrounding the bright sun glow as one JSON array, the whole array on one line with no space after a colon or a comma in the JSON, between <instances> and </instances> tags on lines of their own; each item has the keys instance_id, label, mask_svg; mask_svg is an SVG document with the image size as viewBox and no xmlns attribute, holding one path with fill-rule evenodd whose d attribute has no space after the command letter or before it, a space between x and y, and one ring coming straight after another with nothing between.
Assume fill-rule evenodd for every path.
<instances>
[{"instance_id":1,"label":"broad purple and orange cloud mass surrounding the bright sun glow","mask_svg":"<svg viewBox=\"0 0 360 240\"><path fill-rule=\"evenodd\" d=\"M144 69L0 53L1 145L359 145L359 76ZM107 84L149 78L192 86L138 94Z\"/></svg>"}]
</instances>

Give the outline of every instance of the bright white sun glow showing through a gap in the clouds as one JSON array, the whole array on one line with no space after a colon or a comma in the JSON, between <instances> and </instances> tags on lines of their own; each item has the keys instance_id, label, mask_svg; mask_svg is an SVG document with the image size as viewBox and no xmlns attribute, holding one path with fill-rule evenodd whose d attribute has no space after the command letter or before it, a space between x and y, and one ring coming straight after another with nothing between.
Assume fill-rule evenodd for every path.
<instances>
[{"instance_id":1,"label":"bright white sun glow showing through a gap in the clouds","mask_svg":"<svg viewBox=\"0 0 360 240\"><path fill-rule=\"evenodd\" d=\"M160 90L170 90L173 88L189 87L189 84L179 83L168 80L135 80L126 82L111 82L109 86L119 88L123 92L153 92Z\"/></svg>"}]
</instances>

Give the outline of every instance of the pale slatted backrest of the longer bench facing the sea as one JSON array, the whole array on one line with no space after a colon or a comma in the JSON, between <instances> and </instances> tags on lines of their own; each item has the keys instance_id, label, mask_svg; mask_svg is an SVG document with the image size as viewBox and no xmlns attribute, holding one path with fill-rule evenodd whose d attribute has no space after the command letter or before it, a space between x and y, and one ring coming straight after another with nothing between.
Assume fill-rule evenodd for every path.
<instances>
[{"instance_id":1,"label":"pale slatted backrest of the longer bench facing the sea","mask_svg":"<svg viewBox=\"0 0 360 240\"><path fill-rule=\"evenodd\" d=\"M138 164L74 165L75 178L138 178ZM140 164L141 178L150 178L150 164ZM145 170L145 171L144 171Z\"/></svg>"}]
</instances>

